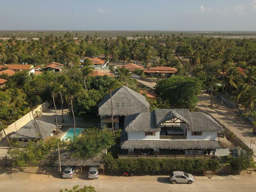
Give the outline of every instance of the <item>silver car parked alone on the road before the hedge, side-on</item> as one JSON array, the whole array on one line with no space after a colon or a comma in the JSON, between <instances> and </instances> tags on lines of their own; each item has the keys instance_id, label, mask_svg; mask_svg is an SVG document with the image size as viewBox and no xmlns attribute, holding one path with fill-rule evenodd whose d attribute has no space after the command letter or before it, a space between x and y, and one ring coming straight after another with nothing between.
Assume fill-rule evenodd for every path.
<instances>
[{"instance_id":1,"label":"silver car parked alone on the road before the hedge, side-on","mask_svg":"<svg viewBox=\"0 0 256 192\"><path fill-rule=\"evenodd\" d=\"M183 171L172 171L170 173L170 181L172 182L172 184L176 184L176 183L192 184L195 181L195 178L193 175L189 173L185 173Z\"/></svg>"}]
</instances>

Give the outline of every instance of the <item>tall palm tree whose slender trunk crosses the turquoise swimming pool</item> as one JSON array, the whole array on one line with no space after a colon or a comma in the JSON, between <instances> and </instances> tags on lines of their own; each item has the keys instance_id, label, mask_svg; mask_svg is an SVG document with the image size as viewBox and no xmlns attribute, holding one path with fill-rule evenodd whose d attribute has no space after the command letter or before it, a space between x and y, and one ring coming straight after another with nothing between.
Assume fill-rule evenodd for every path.
<instances>
[{"instance_id":1,"label":"tall palm tree whose slender trunk crosses the turquoise swimming pool","mask_svg":"<svg viewBox=\"0 0 256 192\"><path fill-rule=\"evenodd\" d=\"M65 95L65 99L66 101L70 101L70 105L71 105L71 111L72 111L72 115L73 115L73 121L74 121L74 140L76 139L76 119L75 119L75 115L74 115L74 110L73 110L73 100L75 97L77 97L78 95L84 94L87 96L87 93L84 91L83 86L81 84L78 83L74 83L72 84L72 86L68 86L67 88L67 94Z\"/></svg>"}]
</instances>

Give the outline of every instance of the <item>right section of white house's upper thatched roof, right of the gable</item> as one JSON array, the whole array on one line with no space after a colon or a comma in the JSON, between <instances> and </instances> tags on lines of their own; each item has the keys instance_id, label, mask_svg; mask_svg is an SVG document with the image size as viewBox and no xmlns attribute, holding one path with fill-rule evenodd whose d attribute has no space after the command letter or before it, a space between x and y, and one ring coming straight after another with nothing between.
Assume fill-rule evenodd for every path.
<instances>
[{"instance_id":1,"label":"right section of white house's upper thatched roof, right of the gable","mask_svg":"<svg viewBox=\"0 0 256 192\"><path fill-rule=\"evenodd\" d=\"M216 131L223 132L223 128L209 115L201 112L190 112L193 121L191 131Z\"/></svg>"}]
</instances>

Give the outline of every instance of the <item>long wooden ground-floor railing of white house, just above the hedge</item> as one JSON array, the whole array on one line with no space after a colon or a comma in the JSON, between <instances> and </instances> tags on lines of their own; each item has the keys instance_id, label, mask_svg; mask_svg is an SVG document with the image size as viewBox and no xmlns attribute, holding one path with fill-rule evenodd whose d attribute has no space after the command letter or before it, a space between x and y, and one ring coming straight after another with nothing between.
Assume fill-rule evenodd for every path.
<instances>
[{"instance_id":1,"label":"long wooden ground-floor railing of white house, just above the hedge","mask_svg":"<svg viewBox=\"0 0 256 192\"><path fill-rule=\"evenodd\" d=\"M213 155L118 155L119 159L212 159Z\"/></svg>"}]
</instances>

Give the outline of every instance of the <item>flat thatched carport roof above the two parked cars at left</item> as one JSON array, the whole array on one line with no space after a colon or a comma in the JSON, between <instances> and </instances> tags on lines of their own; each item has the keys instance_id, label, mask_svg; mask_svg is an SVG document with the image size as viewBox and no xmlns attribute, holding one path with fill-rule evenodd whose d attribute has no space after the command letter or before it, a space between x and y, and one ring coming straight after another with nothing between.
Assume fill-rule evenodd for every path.
<instances>
[{"instance_id":1,"label":"flat thatched carport roof above the two parked cars at left","mask_svg":"<svg viewBox=\"0 0 256 192\"><path fill-rule=\"evenodd\" d=\"M106 154L106 149L102 150L96 156L87 159L78 159L72 157L71 151L64 151L60 154L60 164L61 166L101 166L104 165L103 155ZM56 159L55 166L59 165L59 158Z\"/></svg>"}]
</instances>

